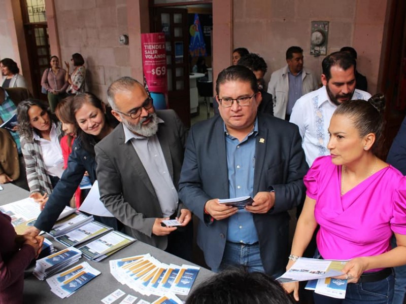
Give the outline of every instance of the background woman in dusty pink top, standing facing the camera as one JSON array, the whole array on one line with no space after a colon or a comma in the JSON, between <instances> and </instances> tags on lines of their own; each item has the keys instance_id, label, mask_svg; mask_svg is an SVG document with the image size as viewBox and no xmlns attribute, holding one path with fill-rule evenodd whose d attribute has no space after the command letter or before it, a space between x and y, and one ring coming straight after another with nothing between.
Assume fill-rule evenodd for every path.
<instances>
[{"instance_id":1,"label":"background woman in dusty pink top, standing facing the camera","mask_svg":"<svg viewBox=\"0 0 406 304\"><path fill-rule=\"evenodd\" d=\"M68 86L65 81L66 71L59 66L59 58L52 56L50 60L51 67L47 68L42 74L41 86L47 90L47 97L51 112L55 112L55 107L60 100L66 96Z\"/></svg>"}]
</instances>

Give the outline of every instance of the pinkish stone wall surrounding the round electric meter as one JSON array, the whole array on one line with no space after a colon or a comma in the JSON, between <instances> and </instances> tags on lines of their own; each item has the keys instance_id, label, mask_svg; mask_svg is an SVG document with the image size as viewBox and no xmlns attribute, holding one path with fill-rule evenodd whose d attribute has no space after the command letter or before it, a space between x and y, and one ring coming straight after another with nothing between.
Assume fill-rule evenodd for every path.
<instances>
[{"instance_id":1,"label":"pinkish stone wall surrounding the round electric meter","mask_svg":"<svg viewBox=\"0 0 406 304\"><path fill-rule=\"evenodd\" d=\"M387 0L234 0L233 46L258 53L270 74L286 64L290 46L303 49L304 65L321 74L325 56L310 55L311 21L329 21L327 54L353 46L368 91L376 92Z\"/></svg>"}]
</instances>

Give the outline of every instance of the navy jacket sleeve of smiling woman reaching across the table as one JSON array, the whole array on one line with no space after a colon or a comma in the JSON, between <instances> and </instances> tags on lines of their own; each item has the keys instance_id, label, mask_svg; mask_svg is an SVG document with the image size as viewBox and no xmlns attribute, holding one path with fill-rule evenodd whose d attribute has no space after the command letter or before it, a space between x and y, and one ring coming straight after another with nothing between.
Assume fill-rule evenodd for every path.
<instances>
[{"instance_id":1,"label":"navy jacket sleeve of smiling woman reaching across the table","mask_svg":"<svg viewBox=\"0 0 406 304\"><path fill-rule=\"evenodd\" d=\"M89 173L90 181L93 184L96 180L96 161L82 147L81 140L76 138L72 145L72 153L67 161L67 168L63 171L44 210L34 224L37 229L46 232L52 229L59 214L75 194L85 171Z\"/></svg>"}]
</instances>

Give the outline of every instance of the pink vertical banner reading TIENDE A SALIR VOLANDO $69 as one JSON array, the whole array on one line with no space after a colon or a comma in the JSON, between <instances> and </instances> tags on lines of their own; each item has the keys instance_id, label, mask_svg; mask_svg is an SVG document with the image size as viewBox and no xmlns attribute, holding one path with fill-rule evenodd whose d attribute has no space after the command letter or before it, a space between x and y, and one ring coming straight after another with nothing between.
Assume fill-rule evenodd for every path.
<instances>
[{"instance_id":1,"label":"pink vertical banner reading TIENDE A SALIR VOLANDO $69","mask_svg":"<svg viewBox=\"0 0 406 304\"><path fill-rule=\"evenodd\" d=\"M144 77L154 106L167 108L166 50L164 33L141 34Z\"/></svg>"}]
</instances>

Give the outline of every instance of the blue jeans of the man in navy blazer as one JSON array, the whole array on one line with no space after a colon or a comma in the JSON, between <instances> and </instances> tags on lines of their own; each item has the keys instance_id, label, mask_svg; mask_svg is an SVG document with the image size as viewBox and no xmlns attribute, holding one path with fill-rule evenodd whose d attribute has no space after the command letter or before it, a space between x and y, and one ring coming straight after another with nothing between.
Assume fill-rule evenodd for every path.
<instances>
[{"instance_id":1,"label":"blue jeans of the man in navy blazer","mask_svg":"<svg viewBox=\"0 0 406 304\"><path fill-rule=\"evenodd\" d=\"M219 272L232 267L247 267L249 272L265 272L259 254L259 243L253 245L226 242L223 259L218 269Z\"/></svg>"}]
</instances>

